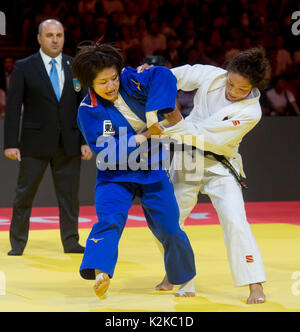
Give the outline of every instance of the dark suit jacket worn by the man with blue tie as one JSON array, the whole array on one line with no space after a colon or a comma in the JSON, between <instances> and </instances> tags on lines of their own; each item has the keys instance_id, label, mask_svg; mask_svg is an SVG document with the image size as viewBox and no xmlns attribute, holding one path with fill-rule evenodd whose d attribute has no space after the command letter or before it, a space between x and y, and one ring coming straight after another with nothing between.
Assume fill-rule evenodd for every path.
<instances>
[{"instance_id":1,"label":"dark suit jacket worn by the man with blue tie","mask_svg":"<svg viewBox=\"0 0 300 332\"><path fill-rule=\"evenodd\" d=\"M71 64L72 58L63 54L65 83L58 102L39 52L16 61L7 96L4 149L19 148L21 156L51 156L61 134L65 153L80 155L86 143L77 127L77 108L86 91L75 91Z\"/></svg>"}]
</instances>

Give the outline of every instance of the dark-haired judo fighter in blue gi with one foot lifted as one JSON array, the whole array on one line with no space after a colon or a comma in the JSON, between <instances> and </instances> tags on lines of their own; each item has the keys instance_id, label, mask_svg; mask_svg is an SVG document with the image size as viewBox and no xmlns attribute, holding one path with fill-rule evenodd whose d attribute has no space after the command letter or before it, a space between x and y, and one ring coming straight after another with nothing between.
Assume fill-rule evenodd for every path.
<instances>
[{"instance_id":1,"label":"dark-haired judo fighter in blue gi with one foot lifted","mask_svg":"<svg viewBox=\"0 0 300 332\"><path fill-rule=\"evenodd\" d=\"M193 250L179 226L173 185L162 166L162 147L158 140L157 144L151 140L150 146L147 141L159 133L157 121L163 113L175 107L176 78L165 67L141 74L122 68L120 52L107 44L85 46L72 65L74 77L89 88L79 107L78 125L98 168L98 222L87 239L80 274L96 279L99 297L114 275L119 240L135 195L141 197L148 226L164 247L170 282L183 287L196 274Z\"/></svg>"}]
</instances>

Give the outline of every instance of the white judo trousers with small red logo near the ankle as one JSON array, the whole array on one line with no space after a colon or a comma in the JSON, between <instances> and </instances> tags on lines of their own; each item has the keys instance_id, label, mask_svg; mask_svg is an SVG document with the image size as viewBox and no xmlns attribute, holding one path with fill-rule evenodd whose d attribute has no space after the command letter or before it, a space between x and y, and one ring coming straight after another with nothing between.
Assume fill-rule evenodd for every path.
<instances>
[{"instance_id":1,"label":"white judo trousers with small red logo near the ankle","mask_svg":"<svg viewBox=\"0 0 300 332\"><path fill-rule=\"evenodd\" d=\"M187 181L184 171L174 171L174 165L181 159L182 153L186 152L175 153L170 170L180 210L180 226L184 227L186 219L197 204L199 192L208 195L223 230L234 285L244 286L266 281L262 257L247 221L240 184L228 169L209 158L204 158L202 179ZM213 166L214 171L209 166ZM220 169L221 174L215 173L215 166Z\"/></svg>"}]
</instances>

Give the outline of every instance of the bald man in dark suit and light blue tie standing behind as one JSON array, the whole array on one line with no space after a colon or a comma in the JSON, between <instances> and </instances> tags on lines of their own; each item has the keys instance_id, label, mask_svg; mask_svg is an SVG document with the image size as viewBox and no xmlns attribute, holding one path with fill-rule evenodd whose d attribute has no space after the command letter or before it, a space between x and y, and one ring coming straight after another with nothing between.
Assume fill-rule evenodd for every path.
<instances>
[{"instance_id":1,"label":"bald man in dark suit and light blue tie standing behind","mask_svg":"<svg viewBox=\"0 0 300 332\"><path fill-rule=\"evenodd\" d=\"M24 251L33 199L49 164L64 252L83 253L78 243L80 165L81 159L92 157L77 127L77 108L85 92L73 80L72 58L62 54L62 24L53 19L42 22L38 42L37 53L16 61L7 95L4 154L20 162L8 254Z\"/></svg>"}]
</instances>

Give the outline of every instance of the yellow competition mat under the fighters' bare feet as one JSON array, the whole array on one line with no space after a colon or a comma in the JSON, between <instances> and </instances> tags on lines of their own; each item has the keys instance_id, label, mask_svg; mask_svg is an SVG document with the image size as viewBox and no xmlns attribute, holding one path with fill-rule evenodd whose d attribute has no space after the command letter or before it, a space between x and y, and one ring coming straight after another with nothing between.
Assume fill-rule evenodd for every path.
<instances>
[{"instance_id":1,"label":"yellow competition mat under the fighters' bare feet","mask_svg":"<svg viewBox=\"0 0 300 332\"><path fill-rule=\"evenodd\" d=\"M254 224L268 282L267 302L247 305L248 287L235 288L219 225L187 226L195 251L196 297L176 298L154 287L164 275L162 256L150 230L125 228L119 260L106 299L93 281L81 279L82 255L64 254L59 230L32 230L21 257L7 256L8 232L0 232L0 311L220 312L300 311L300 227ZM89 229L80 229L81 244Z\"/></svg>"}]
</instances>

